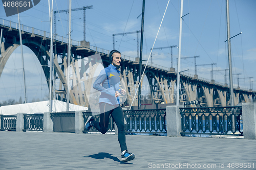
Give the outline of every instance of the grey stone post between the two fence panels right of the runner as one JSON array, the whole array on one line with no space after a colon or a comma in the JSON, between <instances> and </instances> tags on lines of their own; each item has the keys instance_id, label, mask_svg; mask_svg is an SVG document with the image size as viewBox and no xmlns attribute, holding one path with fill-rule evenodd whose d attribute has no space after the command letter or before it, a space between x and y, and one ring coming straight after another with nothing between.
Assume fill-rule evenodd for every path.
<instances>
[{"instance_id":1,"label":"grey stone post between the two fence panels right of the runner","mask_svg":"<svg viewBox=\"0 0 256 170\"><path fill-rule=\"evenodd\" d=\"M180 107L183 106L166 106L167 136L181 136Z\"/></svg>"}]
</instances>

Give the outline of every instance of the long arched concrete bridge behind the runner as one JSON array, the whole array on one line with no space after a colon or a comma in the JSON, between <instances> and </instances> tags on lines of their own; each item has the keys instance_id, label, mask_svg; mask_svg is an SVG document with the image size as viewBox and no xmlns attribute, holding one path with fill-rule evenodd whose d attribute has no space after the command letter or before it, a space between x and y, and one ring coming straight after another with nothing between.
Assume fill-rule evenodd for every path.
<instances>
[{"instance_id":1,"label":"long arched concrete bridge behind the runner","mask_svg":"<svg viewBox=\"0 0 256 170\"><path fill-rule=\"evenodd\" d=\"M22 43L28 46L33 53L37 56L44 74L47 79L48 86L53 86L52 82L49 82L50 78L50 33L46 31L37 30L28 26L22 25ZM1 44L1 57L0 57L0 77L6 62L13 51L20 45L19 43L19 30L18 23L0 18L0 30L3 29L3 40ZM67 49L68 38L58 35L54 36L54 69L55 80L59 80L58 88L55 88L55 96L53 99L60 101L67 101L67 93L70 94L70 103L81 106L88 106L88 100L86 94L90 92L84 91L81 87L81 82L84 85L91 85L90 78L94 75L100 60L102 60L103 66L108 66L109 63L109 50L99 48L90 45L87 41L75 41L72 40L71 47L71 65L72 71L76 73L76 78L73 79L73 88L70 92L67 91L66 69L67 69ZM91 60L91 56L98 54L94 60ZM78 65L78 60L87 59L86 65ZM61 61L61 62L59 62ZM146 67L146 71L143 78L148 80L148 88L150 93L148 96L148 104L175 104L176 99L176 77L177 72L174 68L167 68L156 64L148 64L142 62L143 69ZM80 75L79 69L90 69L90 74ZM120 65L120 71L124 78L124 83L127 91L127 100L124 106L130 106L135 94L135 88L138 87L139 81L137 80L139 68L139 58L132 58L122 55L122 62ZM83 79L82 79L83 78ZM143 81L142 81L143 82ZM49 88L50 89L50 88ZM53 88L52 88L53 89ZM143 90L143 89L142 89ZM137 94L138 95L138 94ZM255 91L251 89L243 89L240 87L234 88L234 104L237 105L241 102L252 102L256 100ZM180 101L182 103L188 101L198 100L201 105L207 107L218 106L230 106L230 92L227 84L215 82L213 80L207 80L198 77L198 75L181 74L181 89L180 89ZM138 98L138 97L137 97ZM136 100L133 106L138 105Z\"/></svg>"}]
</instances>

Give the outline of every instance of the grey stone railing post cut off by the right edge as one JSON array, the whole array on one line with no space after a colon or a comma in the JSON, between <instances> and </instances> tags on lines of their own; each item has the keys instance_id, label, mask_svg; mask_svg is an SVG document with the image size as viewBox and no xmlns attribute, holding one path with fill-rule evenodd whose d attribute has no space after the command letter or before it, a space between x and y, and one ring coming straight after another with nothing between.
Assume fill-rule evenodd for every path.
<instances>
[{"instance_id":1,"label":"grey stone railing post cut off by the right edge","mask_svg":"<svg viewBox=\"0 0 256 170\"><path fill-rule=\"evenodd\" d=\"M242 104L244 139L256 139L256 103Z\"/></svg>"}]
</instances>

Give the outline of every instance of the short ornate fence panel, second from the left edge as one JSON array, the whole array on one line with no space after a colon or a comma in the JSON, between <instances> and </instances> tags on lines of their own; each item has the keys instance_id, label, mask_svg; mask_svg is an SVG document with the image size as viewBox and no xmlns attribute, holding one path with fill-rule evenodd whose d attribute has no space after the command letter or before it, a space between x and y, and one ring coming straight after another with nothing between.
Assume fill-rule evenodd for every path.
<instances>
[{"instance_id":1,"label":"short ornate fence panel, second from the left edge","mask_svg":"<svg viewBox=\"0 0 256 170\"><path fill-rule=\"evenodd\" d=\"M24 114L23 131L42 131L44 129L44 114Z\"/></svg>"}]
</instances>

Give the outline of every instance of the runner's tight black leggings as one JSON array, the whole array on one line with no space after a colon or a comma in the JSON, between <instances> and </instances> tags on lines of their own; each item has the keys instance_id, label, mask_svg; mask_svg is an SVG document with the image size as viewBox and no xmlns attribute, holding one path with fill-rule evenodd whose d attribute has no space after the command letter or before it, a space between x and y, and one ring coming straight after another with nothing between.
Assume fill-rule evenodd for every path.
<instances>
[{"instance_id":1,"label":"runner's tight black leggings","mask_svg":"<svg viewBox=\"0 0 256 170\"><path fill-rule=\"evenodd\" d=\"M112 115L114 122L118 128L118 141L120 144L121 152L127 150L125 143L125 130L124 130L124 115L123 110L118 105L110 105L107 103L99 103L100 108L100 123L94 120L93 126L101 133L106 133L109 127L109 117Z\"/></svg>"}]
</instances>

